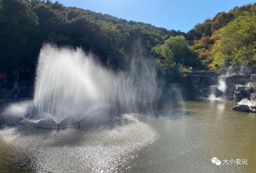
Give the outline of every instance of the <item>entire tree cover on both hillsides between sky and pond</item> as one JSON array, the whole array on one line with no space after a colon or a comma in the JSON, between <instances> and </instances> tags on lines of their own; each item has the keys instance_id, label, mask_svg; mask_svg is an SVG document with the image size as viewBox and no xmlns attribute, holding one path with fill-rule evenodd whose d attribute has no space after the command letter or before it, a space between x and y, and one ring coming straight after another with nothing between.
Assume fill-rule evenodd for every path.
<instances>
[{"instance_id":1,"label":"entire tree cover on both hillsides between sky and pond","mask_svg":"<svg viewBox=\"0 0 256 173\"><path fill-rule=\"evenodd\" d=\"M256 3L220 12L184 33L57 1L0 0L0 71L34 68L44 42L82 47L114 70L125 69L130 55L155 58L169 77L190 66L255 66L255 26Z\"/></svg>"}]
</instances>

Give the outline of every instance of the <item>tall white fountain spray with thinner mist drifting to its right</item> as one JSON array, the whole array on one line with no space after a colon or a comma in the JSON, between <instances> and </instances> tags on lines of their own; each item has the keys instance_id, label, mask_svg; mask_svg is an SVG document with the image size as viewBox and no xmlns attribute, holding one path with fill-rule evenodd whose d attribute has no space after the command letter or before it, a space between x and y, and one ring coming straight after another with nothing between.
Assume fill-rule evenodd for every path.
<instances>
[{"instance_id":1,"label":"tall white fountain spray with thinner mist drifting to its right","mask_svg":"<svg viewBox=\"0 0 256 173\"><path fill-rule=\"evenodd\" d=\"M138 105L154 102L159 93L155 61L134 57L127 66L127 71L113 72L80 48L45 44L37 64L33 106L25 117L79 121L107 116L119 107L133 112Z\"/></svg>"}]
</instances>

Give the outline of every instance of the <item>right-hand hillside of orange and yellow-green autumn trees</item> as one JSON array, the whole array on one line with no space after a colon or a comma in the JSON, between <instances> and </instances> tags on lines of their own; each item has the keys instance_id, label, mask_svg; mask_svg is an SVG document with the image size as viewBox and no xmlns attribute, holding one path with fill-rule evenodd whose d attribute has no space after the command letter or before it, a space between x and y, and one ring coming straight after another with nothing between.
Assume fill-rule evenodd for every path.
<instances>
[{"instance_id":1,"label":"right-hand hillside of orange and yellow-green autumn trees","mask_svg":"<svg viewBox=\"0 0 256 173\"><path fill-rule=\"evenodd\" d=\"M198 34L192 49L210 70L216 64L220 72L231 65L236 69L256 65L256 3L218 13L198 23L187 35L191 33Z\"/></svg>"}]
</instances>

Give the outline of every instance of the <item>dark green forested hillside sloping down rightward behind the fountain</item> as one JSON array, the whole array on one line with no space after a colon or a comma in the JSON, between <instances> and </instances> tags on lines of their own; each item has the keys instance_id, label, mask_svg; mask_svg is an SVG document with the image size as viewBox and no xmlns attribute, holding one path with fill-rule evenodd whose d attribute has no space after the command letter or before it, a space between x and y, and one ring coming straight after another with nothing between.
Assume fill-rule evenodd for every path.
<instances>
[{"instance_id":1,"label":"dark green forested hillside sloping down rightward behind the fountain","mask_svg":"<svg viewBox=\"0 0 256 173\"><path fill-rule=\"evenodd\" d=\"M59 2L39 0L0 1L0 69L34 66L44 41L82 47L97 54L103 63L118 68L124 54L136 49L145 56L175 30L127 21Z\"/></svg>"}]
</instances>

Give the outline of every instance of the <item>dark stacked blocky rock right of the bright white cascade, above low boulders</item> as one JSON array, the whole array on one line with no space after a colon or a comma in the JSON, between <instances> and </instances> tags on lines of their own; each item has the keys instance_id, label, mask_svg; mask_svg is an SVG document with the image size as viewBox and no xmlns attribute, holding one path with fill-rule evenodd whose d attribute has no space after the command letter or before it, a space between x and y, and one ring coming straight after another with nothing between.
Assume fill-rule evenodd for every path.
<instances>
[{"instance_id":1,"label":"dark stacked blocky rock right of the bright white cascade, above low boulders","mask_svg":"<svg viewBox=\"0 0 256 173\"><path fill-rule=\"evenodd\" d=\"M251 97L251 93L253 92L252 87L247 87L245 85L235 85L232 90L234 91L234 100L240 101L243 98L247 98L248 100Z\"/></svg>"}]
</instances>

